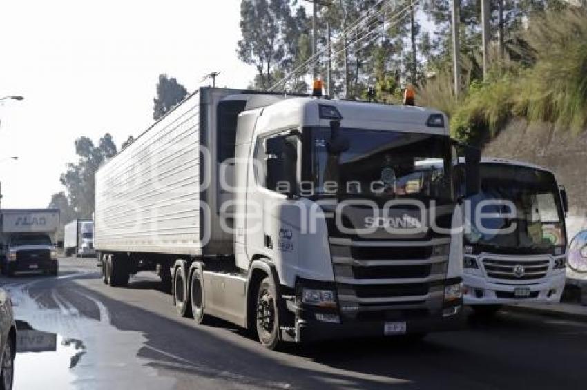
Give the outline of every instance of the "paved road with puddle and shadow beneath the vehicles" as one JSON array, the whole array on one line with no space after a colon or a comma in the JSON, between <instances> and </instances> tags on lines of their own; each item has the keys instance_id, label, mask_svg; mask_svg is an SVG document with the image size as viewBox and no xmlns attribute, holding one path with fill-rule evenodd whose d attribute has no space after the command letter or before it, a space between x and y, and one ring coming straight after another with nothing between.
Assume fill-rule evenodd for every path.
<instances>
[{"instance_id":1,"label":"paved road with puddle and shadow beneath the vehicles","mask_svg":"<svg viewBox=\"0 0 587 390\"><path fill-rule=\"evenodd\" d=\"M587 324L512 312L409 344L347 340L266 351L224 322L178 318L157 278L106 287L95 260L63 259L59 277L0 278L23 349L16 390L581 388ZM34 330L26 330L34 329Z\"/></svg>"}]
</instances>

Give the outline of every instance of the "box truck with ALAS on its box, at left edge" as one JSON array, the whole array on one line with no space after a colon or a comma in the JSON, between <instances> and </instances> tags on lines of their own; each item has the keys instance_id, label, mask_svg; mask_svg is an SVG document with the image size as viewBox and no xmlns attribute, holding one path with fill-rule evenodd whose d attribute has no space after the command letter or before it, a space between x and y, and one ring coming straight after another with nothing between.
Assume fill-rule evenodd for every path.
<instances>
[{"instance_id":1,"label":"box truck with ALAS on its box, at left edge","mask_svg":"<svg viewBox=\"0 0 587 390\"><path fill-rule=\"evenodd\" d=\"M2 272L44 272L57 275L58 209L1 209L0 259Z\"/></svg>"}]
</instances>

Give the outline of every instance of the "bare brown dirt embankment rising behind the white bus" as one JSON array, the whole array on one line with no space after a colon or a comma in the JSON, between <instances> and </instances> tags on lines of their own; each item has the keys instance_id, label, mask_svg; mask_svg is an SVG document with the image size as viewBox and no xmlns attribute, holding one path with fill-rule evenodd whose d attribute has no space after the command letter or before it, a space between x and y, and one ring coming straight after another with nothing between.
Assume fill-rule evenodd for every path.
<instances>
[{"instance_id":1,"label":"bare brown dirt embankment rising behind the white bus","mask_svg":"<svg viewBox=\"0 0 587 390\"><path fill-rule=\"evenodd\" d=\"M573 135L552 123L512 119L485 145L483 156L528 161L555 172L568 193L569 240L587 229L587 131Z\"/></svg>"}]
</instances>

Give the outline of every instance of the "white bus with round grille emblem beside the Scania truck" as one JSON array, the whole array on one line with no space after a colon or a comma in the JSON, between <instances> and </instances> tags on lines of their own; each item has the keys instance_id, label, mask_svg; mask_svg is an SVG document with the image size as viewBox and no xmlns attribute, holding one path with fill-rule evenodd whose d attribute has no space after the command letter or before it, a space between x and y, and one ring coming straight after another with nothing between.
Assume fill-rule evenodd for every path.
<instances>
[{"instance_id":1,"label":"white bus with round grille emblem beside the Scania truck","mask_svg":"<svg viewBox=\"0 0 587 390\"><path fill-rule=\"evenodd\" d=\"M559 302L566 278L564 188L543 167L501 158L482 158L480 177L465 213L465 304L492 314L503 304Z\"/></svg>"}]
</instances>

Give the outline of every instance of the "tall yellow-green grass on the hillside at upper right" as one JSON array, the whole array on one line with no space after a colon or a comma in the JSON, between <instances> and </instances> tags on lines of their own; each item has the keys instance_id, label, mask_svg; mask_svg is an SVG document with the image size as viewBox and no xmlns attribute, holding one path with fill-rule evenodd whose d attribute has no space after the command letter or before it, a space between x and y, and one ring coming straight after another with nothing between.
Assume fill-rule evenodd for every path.
<instances>
[{"instance_id":1,"label":"tall yellow-green grass on the hillside at upper right","mask_svg":"<svg viewBox=\"0 0 587 390\"><path fill-rule=\"evenodd\" d=\"M536 14L517 41L514 55L496 61L487 81L472 81L459 101L448 71L421 88L421 103L447 112L456 138L488 141L513 116L554 123L575 134L585 130L587 11Z\"/></svg>"}]
</instances>

